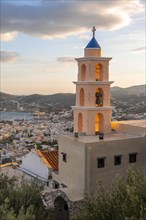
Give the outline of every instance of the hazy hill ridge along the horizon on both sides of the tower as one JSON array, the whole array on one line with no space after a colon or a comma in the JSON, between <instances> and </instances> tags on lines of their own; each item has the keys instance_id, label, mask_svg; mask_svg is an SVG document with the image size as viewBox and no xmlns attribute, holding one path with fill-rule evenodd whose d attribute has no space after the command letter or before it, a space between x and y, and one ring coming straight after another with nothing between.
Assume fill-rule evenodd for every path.
<instances>
[{"instance_id":1,"label":"hazy hill ridge along the horizon on both sides of the tower","mask_svg":"<svg viewBox=\"0 0 146 220\"><path fill-rule=\"evenodd\" d=\"M113 98L116 97L123 97L123 96L144 96L146 95L146 85L138 85L138 86L131 86L128 88L120 88L118 86L111 88L111 96ZM69 107L75 104L75 94L71 93L57 93L53 95L39 95L39 94L33 94L33 95L27 95L27 96L16 96L16 95L10 95L6 93L0 92L0 101L6 102L6 101L19 101L23 103L38 103L43 105L45 104L52 104L52 105L58 105L58 106L64 106Z\"/></svg>"}]
</instances>

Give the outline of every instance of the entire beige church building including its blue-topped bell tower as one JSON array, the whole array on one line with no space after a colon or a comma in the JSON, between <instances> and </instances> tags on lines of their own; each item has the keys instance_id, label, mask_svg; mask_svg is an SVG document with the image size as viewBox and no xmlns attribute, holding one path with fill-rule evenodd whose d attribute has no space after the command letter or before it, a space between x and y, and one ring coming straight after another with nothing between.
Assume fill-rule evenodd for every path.
<instances>
[{"instance_id":1,"label":"entire beige church building including its blue-topped bell tower","mask_svg":"<svg viewBox=\"0 0 146 220\"><path fill-rule=\"evenodd\" d=\"M146 169L145 121L111 122L109 61L93 37L77 58L78 77L74 135L59 137L59 171L52 172L58 190L52 194L56 220L68 220L86 192L97 191L102 179L108 187L116 174L126 176L129 166ZM47 203L47 194L46 194Z\"/></svg>"}]
</instances>

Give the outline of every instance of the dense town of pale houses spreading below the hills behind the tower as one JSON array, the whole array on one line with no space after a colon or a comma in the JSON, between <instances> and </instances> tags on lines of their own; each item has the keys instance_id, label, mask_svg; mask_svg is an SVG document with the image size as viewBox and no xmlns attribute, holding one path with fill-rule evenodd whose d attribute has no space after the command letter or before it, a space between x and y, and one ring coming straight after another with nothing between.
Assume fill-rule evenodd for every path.
<instances>
[{"instance_id":1,"label":"dense town of pale houses spreading below the hills behind the tower","mask_svg":"<svg viewBox=\"0 0 146 220\"><path fill-rule=\"evenodd\" d=\"M113 104L117 104L113 101ZM137 112L144 101L133 106ZM123 108L125 106L125 108ZM131 113L128 102L113 109L113 121L145 119L146 113ZM127 106L127 107L126 107ZM0 163L21 162L32 149L57 150L59 134L73 132L72 110L59 113L35 112L31 120L0 121Z\"/></svg>"}]
</instances>

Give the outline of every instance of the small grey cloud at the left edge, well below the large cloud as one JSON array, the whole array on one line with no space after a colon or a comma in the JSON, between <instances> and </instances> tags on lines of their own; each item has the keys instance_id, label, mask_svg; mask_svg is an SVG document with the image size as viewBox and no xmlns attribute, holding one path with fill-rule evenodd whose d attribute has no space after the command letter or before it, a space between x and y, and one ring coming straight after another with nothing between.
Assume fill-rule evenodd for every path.
<instances>
[{"instance_id":1,"label":"small grey cloud at the left edge, well below the large cloud","mask_svg":"<svg viewBox=\"0 0 146 220\"><path fill-rule=\"evenodd\" d=\"M19 58L19 54L12 51L0 51L0 61L3 63L6 62L15 62Z\"/></svg>"}]
</instances>

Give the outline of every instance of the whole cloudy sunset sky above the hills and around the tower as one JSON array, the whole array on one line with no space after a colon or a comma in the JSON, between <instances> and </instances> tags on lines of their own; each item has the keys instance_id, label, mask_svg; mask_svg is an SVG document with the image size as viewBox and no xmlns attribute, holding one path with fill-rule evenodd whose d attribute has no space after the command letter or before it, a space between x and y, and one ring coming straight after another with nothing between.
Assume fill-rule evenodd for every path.
<instances>
[{"instance_id":1,"label":"whole cloudy sunset sky above the hills and around the tower","mask_svg":"<svg viewBox=\"0 0 146 220\"><path fill-rule=\"evenodd\" d=\"M112 86L145 84L145 0L0 0L0 90L75 93L77 62L96 27Z\"/></svg>"}]
</instances>

